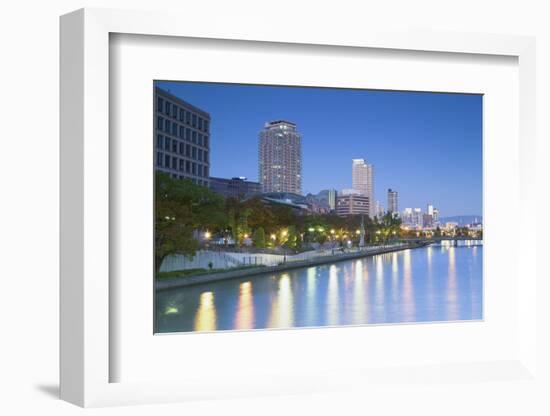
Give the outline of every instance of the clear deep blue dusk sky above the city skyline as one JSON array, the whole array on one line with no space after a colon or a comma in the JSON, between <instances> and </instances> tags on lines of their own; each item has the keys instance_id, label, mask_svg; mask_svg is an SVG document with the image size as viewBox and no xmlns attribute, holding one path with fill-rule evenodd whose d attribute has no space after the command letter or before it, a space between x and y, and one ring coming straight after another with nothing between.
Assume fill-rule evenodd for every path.
<instances>
[{"instance_id":1,"label":"clear deep blue dusk sky above the city skyline","mask_svg":"<svg viewBox=\"0 0 550 416\"><path fill-rule=\"evenodd\" d=\"M156 82L211 116L210 176L258 180L258 132L272 120L302 134L302 193L351 188L351 160L374 165L375 198L442 217L482 214L482 96Z\"/></svg>"}]
</instances>

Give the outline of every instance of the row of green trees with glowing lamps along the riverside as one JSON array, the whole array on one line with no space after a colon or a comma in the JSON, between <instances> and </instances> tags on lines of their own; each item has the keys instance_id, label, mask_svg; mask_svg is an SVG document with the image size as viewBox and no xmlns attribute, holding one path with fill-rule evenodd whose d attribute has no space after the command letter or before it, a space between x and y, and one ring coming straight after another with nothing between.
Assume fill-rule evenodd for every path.
<instances>
[{"instance_id":1,"label":"row of green trees with glowing lamps along the riverside","mask_svg":"<svg viewBox=\"0 0 550 416\"><path fill-rule=\"evenodd\" d=\"M198 232L208 231L235 245L251 239L257 248L301 248L304 243L357 241L360 216L299 215L284 205L265 204L260 198L223 198L191 181L157 172L155 181L155 266L160 269L170 254L193 256L199 248ZM401 221L386 215L363 219L365 242L398 238Z\"/></svg>"}]
</instances>

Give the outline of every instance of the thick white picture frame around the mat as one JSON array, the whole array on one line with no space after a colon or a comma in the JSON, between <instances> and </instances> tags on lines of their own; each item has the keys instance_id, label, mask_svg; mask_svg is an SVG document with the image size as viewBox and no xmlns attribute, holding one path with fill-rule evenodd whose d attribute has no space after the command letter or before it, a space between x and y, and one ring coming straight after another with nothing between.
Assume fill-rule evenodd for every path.
<instances>
[{"instance_id":1,"label":"thick white picture frame around the mat","mask_svg":"<svg viewBox=\"0 0 550 416\"><path fill-rule=\"evenodd\" d=\"M111 34L182 38L225 39L281 44L332 45L334 47L384 50L430 51L442 54L503 55L518 59L520 177L519 212L533 204L535 169L535 41L529 37L467 33L399 32L378 29L342 31L327 35L311 25L277 30L266 23L261 29L246 19L217 24L186 20L170 13L84 9L61 19L61 397L80 406L155 403L218 397L232 379L221 374L217 381L185 380L112 382L110 368L121 357L112 349L113 326L110 311L116 309L109 276L110 258L110 159L109 51ZM239 31L236 32L235 28ZM517 294L517 356L499 363L442 363L422 366L415 376L430 379L446 374L449 380L476 382L476 370L518 380L536 377L536 259L526 249L536 240L532 217L521 215L518 262L523 271ZM523 244L522 244L523 243ZM517 273L517 271L516 271ZM115 326L116 328L116 326ZM404 328L404 327L403 327ZM293 336L279 332L278 337ZM235 341L238 343L238 341ZM368 375L353 369L332 369L331 377L319 379L315 372L296 375L292 369L265 380L233 385L226 397L285 392L323 392L342 388L341 380L354 374L358 385L388 382L396 370L381 368ZM399 373L397 379L410 377ZM281 386L284 389L281 390ZM207 391L209 390L209 391ZM224 396L223 394L221 395Z\"/></svg>"}]
</instances>

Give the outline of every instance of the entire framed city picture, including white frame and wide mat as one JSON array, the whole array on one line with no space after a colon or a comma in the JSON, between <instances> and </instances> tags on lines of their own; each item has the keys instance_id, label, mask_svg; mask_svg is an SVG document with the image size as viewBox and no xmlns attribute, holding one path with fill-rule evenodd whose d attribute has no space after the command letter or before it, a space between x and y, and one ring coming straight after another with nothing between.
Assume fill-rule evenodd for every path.
<instances>
[{"instance_id":1,"label":"entire framed city picture, including white frame and wide mat","mask_svg":"<svg viewBox=\"0 0 550 416\"><path fill-rule=\"evenodd\" d=\"M62 398L536 382L534 40L180 22L61 19Z\"/></svg>"}]
</instances>

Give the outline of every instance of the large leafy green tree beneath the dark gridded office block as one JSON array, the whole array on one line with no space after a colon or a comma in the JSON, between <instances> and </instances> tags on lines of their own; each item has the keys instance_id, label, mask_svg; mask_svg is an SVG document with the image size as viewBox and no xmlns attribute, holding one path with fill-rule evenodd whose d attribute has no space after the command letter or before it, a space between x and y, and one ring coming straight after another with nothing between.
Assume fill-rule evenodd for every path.
<instances>
[{"instance_id":1,"label":"large leafy green tree beneath the dark gridded office block","mask_svg":"<svg viewBox=\"0 0 550 416\"><path fill-rule=\"evenodd\" d=\"M171 254L193 257L199 247L194 232L225 227L223 198L189 180L155 175L155 270Z\"/></svg>"}]
</instances>

